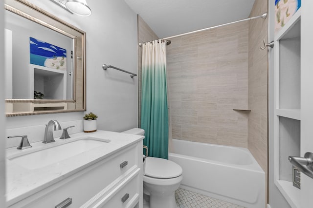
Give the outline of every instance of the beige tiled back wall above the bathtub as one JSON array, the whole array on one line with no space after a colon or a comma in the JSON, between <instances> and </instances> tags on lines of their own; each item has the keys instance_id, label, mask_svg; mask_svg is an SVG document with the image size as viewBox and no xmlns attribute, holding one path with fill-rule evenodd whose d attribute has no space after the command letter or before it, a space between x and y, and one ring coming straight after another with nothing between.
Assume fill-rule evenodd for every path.
<instances>
[{"instance_id":1,"label":"beige tiled back wall above the bathtub","mask_svg":"<svg viewBox=\"0 0 313 208\"><path fill-rule=\"evenodd\" d=\"M248 22L166 47L173 138L247 147Z\"/></svg>"}]
</instances>

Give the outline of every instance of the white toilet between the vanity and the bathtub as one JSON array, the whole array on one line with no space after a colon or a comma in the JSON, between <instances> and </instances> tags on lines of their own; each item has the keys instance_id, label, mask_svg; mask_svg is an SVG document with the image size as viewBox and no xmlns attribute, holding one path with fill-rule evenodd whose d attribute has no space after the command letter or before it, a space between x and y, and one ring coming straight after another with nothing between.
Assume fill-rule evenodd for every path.
<instances>
[{"instance_id":1,"label":"white toilet between the vanity and the bathtub","mask_svg":"<svg viewBox=\"0 0 313 208\"><path fill-rule=\"evenodd\" d=\"M123 133L144 135L134 128ZM173 161L147 157L143 175L143 193L150 196L150 208L177 208L175 190L182 180L182 169Z\"/></svg>"}]
</instances>

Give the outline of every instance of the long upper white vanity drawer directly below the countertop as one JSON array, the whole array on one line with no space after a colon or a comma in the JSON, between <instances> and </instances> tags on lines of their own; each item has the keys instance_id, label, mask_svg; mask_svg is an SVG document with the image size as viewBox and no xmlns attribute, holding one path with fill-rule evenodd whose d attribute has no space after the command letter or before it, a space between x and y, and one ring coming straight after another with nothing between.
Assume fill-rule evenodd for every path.
<instances>
[{"instance_id":1,"label":"long upper white vanity drawer directly below the countertop","mask_svg":"<svg viewBox=\"0 0 313 208\"><path fill-rule=\"evenodd\" d=\"M138 167L134 145L10 206L10 208L54 208L67 198L79 208L105 187L114 187ZM127 162L125 162L127 161ZM122 164L122 165L121 165Z\"/></svg>"}]
</instances>

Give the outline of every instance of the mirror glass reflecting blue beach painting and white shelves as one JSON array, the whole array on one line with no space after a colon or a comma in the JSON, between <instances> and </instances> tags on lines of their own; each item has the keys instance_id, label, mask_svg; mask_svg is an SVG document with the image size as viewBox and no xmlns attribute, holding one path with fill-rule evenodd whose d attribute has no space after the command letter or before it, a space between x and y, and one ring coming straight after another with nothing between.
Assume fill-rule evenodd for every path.
<instances>
[{"instance_id":1,"label":"mirror glass reflecting blue beach painting and white shelves","mask_svg":"<svg viewBox=\"0 0 313 208\"><path fill-rule=\"evenodd\" d=\"M73 39L9 11L4 28L5 98L73 99Z\"/></svg>"}]
</instances>

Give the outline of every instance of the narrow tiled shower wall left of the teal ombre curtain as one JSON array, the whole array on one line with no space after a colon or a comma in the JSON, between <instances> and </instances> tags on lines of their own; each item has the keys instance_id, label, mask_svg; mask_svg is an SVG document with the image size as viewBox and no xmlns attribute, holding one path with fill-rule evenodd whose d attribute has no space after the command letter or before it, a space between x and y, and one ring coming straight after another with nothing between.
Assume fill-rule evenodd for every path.
<instances>
[{"instance_id":1,"label":"narrow tiled shower wall left of the teal ombre curtain","mask_svg":"<svg viewBox=\"0 0 313 208\"><path fill-rule=\"evenodd\" d=\"M147 42L150 40L158 39L155 32L149 25L139 16L138 18L138 43ZM140 128L140 110L141 110L141 59L142 47L138 46L138 127Z\"/></svg>"}]
</instances>

